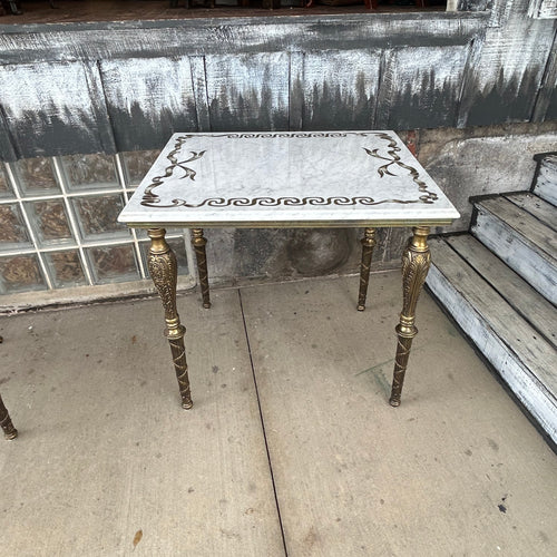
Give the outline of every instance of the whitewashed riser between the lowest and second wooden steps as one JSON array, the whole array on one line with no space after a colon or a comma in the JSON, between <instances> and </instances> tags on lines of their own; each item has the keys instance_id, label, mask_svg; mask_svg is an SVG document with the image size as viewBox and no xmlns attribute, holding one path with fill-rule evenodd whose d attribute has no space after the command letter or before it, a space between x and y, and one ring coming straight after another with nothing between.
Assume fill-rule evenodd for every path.
<instances>
[{"instance_id":1,"label":"whitewashed riser between the lowest and second wooden steps","mask_svg":"<svg viewBox=\"0 0 557 557\"><path fill-rule=\"evenodd\" d=\"M557 304L557 262L529 244L498 217L478 206L471 232L546 300Z\"/></svg>"}]
</instances>

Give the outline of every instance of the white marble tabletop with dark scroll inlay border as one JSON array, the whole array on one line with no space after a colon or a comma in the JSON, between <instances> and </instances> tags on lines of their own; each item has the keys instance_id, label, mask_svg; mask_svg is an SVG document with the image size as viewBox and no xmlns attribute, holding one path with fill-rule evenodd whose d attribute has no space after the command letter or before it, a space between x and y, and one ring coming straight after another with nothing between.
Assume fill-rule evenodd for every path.
<instances>
[{"instance_id":1,"label":"white marble tabletop with dark scroll inlay border","mask_svg":"<svg viewBox=\"0 0 557 557\"><path fill-rule=\"evenodd\" d=\"M394 131L175 134L131 226L449 224L459 214Z\"/></svg>"}]
</instances>

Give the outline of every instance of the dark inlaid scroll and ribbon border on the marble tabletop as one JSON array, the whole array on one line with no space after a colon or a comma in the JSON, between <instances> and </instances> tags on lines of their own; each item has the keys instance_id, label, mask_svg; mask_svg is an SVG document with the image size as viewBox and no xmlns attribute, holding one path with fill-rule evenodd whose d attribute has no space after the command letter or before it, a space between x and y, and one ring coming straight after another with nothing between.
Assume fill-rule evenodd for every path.
<instances>
[{"instance_id":1,"label":"dark inlaid scroll and ribbon border on the marble tabletop","mask_svg":"<svg viewBox=\"0 0 557 557\"><path fill-rule=\"evenodd\" d=\"M156 187L163 185L164 180L173 176L176 168L182 168L184 170L184 176L180 178L189 178L192 180L195 179L196 172L190 168L188 165L194 160L203 157L206 153L202 152L190 152L190 157L186 160L178 162L176 155L182 149L182 146L194 137L193 135L185 135L177 138L174 149L168 154L167 158L172 163L169 166L165 168L165 174L163 176L155 176L152 183L145 188L145 194L143 196L141 205L146 207L155 207L155 208L172 208L172 207L187 207L187 208L197 208L197 207L253 207L258 205L261 207L277 207L280 205L284 206L323 206L323 205L381 205L385 203L397 203L402 205L416 204L416 203L433 203L438 196L434 192L430 192L423 180L420 179L420 175L416 168L410 165L404 164L401 160L401 157L398 155L401 148L398 146L397 140L385 133L364 133L364 131L311 131L311 133L295 133L295 134L286 134L286 133L266 133L266 134L219 134L219 135L196 135L195 137L226 137L228 139L242 139L242 138L311 138L311 137L346 137L349 135L355 135L361 137L368 137L370 135L377 136L380 139L388 141L388 156L379 154L379 149L368 149L367 147L362 147L365 153L375 158L380 158L382 160L388 160L389 163L382 165L378 168L378 174L380 177L384 176L395 176L390 170L392 165L397 165L404 170L408 170L410 176L412 176L412 180L417 184L418 190L422 194L417 199L397 199L397 198L388 198L375 201L373 197L369 196L356 196L356 197L345 197L345 196L331 196L331 197L321 197L321 196L311 196L311 197L209 197L207 199L203 199L199 203L188 203L186 199L172 199L169 204L162 205L160 198L153 190Z\"/></svg>"}]
</instances>

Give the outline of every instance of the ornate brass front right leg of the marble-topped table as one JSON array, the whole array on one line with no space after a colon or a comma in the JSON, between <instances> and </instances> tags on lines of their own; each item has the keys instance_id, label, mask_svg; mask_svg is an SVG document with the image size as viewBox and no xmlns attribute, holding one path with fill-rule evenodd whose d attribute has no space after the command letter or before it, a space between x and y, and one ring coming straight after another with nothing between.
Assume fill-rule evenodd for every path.
<instances>
[{"instance_id":1,"label":"ornate brass front right leg of the marble-topped table","mask_svg":"<svg viewBox=\"0 0 557 557\"><path fill-rule=\"evenodd\" d=\"M421 287L426 282L431 255L428 247L428 226L417 226L413 228L413 236L408 243L408 247L402 255L402 294L403 304L400 322L397 325L398 345L397 358L394 360L394 377L392 380L391 399L389 402L393 407L400 404L404 373L407 371L412 339L418 334L414 325L416 304L420 295Z\"/></svg>"}]
</instances>

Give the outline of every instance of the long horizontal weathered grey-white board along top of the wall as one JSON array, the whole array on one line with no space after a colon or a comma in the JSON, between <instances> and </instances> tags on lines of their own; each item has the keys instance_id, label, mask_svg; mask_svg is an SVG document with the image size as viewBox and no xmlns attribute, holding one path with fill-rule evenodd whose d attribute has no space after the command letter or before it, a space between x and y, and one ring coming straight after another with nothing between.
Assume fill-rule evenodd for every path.
<instances>
[{"instance_id":1,"label":"long horizontal weathered grey-white board along top of the wall","mask_svg":"<svg viewBox=\"0 0 557 557\"><path fill-rule=\"evenodd\" d=\"M0 26L0 65L467 43L486 12ZM10 30L7 31L7 27ZM148 33L145 31L148 29ZM2 32L4 31L4 32Z\"/></svg>"}]
</instances>

